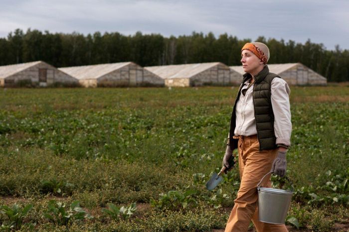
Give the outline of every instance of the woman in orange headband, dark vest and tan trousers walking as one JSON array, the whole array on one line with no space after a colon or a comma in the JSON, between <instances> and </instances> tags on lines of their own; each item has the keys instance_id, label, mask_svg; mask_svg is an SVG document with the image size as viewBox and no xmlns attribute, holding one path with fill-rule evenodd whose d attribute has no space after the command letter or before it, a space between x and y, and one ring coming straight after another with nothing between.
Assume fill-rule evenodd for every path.
<instances>
[{"instance_id":1,"label":"woman in orange headband, dark vest and tan trousers walking","mask_svg":"<svg viewBox=\"0 0 349 232\"><path fill-rule=\"evenodd\" d=\"M284 176L290 146L291 113L287 83L270 73L269 49L263 43L246 43L241 49L243 81L230 120L223 165L238 149L240 189L234 200L226 232L246 232L250 221L257 232L287 232L284 224L263 223L258 218L257 184L270 171ZM270 178L264 187L271 187Z\"/></svg>"}]
</instances>

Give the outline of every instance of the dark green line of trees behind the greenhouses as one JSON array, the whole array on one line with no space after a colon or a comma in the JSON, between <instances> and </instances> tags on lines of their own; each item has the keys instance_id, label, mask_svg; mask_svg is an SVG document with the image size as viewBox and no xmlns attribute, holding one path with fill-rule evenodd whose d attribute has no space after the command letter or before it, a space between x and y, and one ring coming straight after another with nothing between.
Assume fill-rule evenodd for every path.
<instances>
[{"instance_id":1,"label":"dark green line of trees behind the greenhouses","mask_svg":"<svg viewBox=\"0 0 349 232\"><path fill-rule=\"evenodd\" d=\"M274 38L257 38L271 50L269 64L300 62L330 82L349 81L349 50L337 45L327 50L310 39L304 44ZM191 35L165 37L161 34L123 35L119 32L50 33L21 29L0 38L0 65L42 60L55 67L133 61L141 66L222 62L241 65L240 49L250 39L226 33L217 38L192 32Z\"/></svg>"}]
</instances>

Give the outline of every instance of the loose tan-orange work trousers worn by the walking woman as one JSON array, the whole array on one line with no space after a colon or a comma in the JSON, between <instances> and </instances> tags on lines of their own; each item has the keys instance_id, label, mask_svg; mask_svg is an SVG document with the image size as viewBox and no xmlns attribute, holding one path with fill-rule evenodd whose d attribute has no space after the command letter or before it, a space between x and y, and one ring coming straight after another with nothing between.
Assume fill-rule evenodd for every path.
<instances>
[{"instance_id":1,"label":"loose tan-orange work trousers worn by the walking woman","mask_svg":"<svg viewBox=\"0 0 349 232\"><path fill-rule=\"evenodd\" d=\"M271 170L277 149L259 151L257 135L234 136L239 138L240 189L234 200L225 232L247 232L252 222L257 232L288 232L285 224L270 224L259 221L257 184ZM271 187L269 178L264 178L263 187Z\"/></svg>"}]
</instances>

